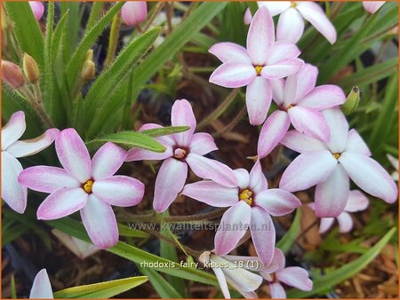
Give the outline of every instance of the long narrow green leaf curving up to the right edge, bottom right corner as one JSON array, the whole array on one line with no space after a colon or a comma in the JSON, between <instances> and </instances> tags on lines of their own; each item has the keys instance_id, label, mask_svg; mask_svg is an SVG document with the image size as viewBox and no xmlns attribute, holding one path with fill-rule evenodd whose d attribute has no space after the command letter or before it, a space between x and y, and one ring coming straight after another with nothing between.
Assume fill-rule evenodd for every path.
<instances>
[{"instance_id":1,"label":"long narrow green leaf curving up to the right edge, bottom right corner","mask_svg":"<svg viewBox=\"0 0 400 300\"><path fill-rule=\"evenodd\" d=\"M390 229L385 236L378 241L371 249L368 249L361 257L351 263L345 264L339 269L336 269L323 277L313 280L313 289L310 291L300 291L298 289L293 289L288 291L286 294L288 298L303 298L313 295L318 295L326 289L332 288L338 283L351 278L360 272L364 267L371 263L372 260L380 254L380 250L385 247L385 245L390 241L393 235L396 233L396 228Z\"/></svg>"}]
</instances>

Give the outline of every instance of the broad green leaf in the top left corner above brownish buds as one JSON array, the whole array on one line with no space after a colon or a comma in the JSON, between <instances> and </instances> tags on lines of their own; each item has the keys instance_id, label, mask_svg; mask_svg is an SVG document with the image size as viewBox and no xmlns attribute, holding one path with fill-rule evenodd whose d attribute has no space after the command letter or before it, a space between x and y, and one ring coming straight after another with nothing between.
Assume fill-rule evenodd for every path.
<instances>
[{"instance_id":1,"label":"broad green leaf in the top left corner above brownish buds","mask_svg":"<svg viewBox=\"0 0 400 300\"><path fill-rule=\"evenodd\" d=\"M32 56L39 66L44 65L43 35L27 2L4 2L7 12L14 21L14 34L20 49Z\"/></svg>"}]
</instances>

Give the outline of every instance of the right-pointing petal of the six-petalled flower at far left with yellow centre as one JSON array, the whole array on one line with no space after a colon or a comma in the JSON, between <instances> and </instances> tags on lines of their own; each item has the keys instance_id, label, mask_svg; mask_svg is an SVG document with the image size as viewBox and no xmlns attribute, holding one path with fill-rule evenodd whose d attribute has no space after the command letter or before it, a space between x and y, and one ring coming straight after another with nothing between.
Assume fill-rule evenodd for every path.
<instances>
[{"instance_id":1,"label":"right-pointing petal of the six-petalled flower at far left with yellow centre","mask_svg":"<svg viewBox=\"0 0 400 300\"><path fill-rule=\"evenodd\" d=\"M100 200L120 207L139 204L144 191L145 186L138 179L121 175L96 180L92 186L92 193Z\"/></svg>"}]
</instances>

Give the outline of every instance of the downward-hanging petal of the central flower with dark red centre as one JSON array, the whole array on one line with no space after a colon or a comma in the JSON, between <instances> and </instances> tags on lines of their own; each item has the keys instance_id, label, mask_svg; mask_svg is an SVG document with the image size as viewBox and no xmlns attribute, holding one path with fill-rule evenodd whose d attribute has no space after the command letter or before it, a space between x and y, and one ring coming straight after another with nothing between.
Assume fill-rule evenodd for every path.
<instances>
[{"instance_id":1,"label":"downward-hanging petal of the central flower with dark red centre","mask_svg":"<svg viewBox=\"0 0 400 300\"><path fill-rule=\"evenodd\" d=\"M174 158L166 159L158 170L153 208L156 212L168 209L188 178L188 164Z\"/></svg>"}]
</instances>

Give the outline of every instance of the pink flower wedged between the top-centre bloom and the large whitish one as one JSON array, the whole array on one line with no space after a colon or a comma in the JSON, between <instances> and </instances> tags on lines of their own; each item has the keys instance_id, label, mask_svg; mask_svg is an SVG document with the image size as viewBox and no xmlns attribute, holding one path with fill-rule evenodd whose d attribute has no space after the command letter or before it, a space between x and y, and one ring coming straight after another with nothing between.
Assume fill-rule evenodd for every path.
<instances>
[{"instance_id":1,"label":"pink flower wedged between the top-centre bloom and the large whitish one","mask_svg":"<svg viewBox=\"0 0 400 300\"><path fill-rule=\"evenodd\" d=\"M318 69L306 64L286 80L271 81L272 98L279 109L268 117L260 131L257 146L260 158L267 156L284 138L291 123L300 133L329 142L331 132L321 111L343 104L346 96L336 85L316 87L317 75Z\"/></svg>"}]
</instances>

